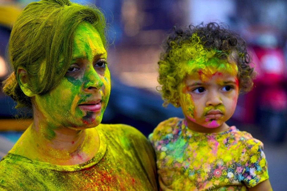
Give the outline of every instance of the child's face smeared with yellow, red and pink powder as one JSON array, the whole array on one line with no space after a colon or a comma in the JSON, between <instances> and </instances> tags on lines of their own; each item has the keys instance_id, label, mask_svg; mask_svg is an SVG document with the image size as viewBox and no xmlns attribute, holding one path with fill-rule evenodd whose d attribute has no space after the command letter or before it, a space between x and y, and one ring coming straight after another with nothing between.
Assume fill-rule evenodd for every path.
<instances>
[{"instance_id":1,"label":"child's face smeared with yellow, red and pink powder","mask_svg":"<svg viewBox=\"0 0 287 191\"><path fill-rule=\"evenodd\" d=\"M179 86L179 103L188 127L197 132L221 132L234 113L239 87L237 67L220 63L193 63Z\"/></svg>"}]
</instances>

